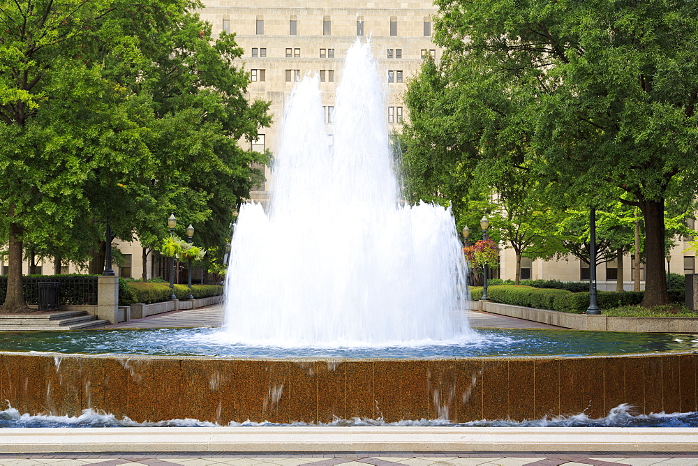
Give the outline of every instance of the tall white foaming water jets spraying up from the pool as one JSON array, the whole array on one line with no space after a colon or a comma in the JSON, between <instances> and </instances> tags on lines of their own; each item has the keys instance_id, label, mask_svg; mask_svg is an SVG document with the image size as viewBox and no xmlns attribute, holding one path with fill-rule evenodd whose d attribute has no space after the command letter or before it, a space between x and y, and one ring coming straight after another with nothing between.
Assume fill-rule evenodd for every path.
<instances>
[{"instance_id":1,"label":"tall white foaming water jets spraying up from the pool","mask_svg":"<svg viewBox=\"0 0 698 466\"><path fill-rule=\"evenodd\" d=\"M292 92L269 213L244 204L218 338L273 346L454 343L472 335L450 210L401 205L369 44L348 50L329 146L318 77Z\"/></svg>"}]
</instances>

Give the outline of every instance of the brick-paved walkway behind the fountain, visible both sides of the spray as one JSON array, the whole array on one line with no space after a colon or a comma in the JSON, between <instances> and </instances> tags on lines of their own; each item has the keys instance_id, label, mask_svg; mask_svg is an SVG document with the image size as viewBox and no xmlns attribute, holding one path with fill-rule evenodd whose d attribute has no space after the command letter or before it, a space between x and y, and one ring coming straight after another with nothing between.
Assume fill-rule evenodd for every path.
<instances>
[{"instance_id":1,"label":"brick-paved walkway behind the fountain, visible both sides of the spray","mask_svg":"<svg viewBox=\"0 0 698 466\"><path fill-rule=\"evenodd\" d=\"M161 329L163 327L218 327L223 324L225 310L222 304L191 310L173 310L169 313L151 315L142 319L121 324L107 325L105 329ZM540 324L530 320L484 313L480 310L468 311L470 326L489 329L562 329L562 327Z\"/></svg>"}]
</instances>

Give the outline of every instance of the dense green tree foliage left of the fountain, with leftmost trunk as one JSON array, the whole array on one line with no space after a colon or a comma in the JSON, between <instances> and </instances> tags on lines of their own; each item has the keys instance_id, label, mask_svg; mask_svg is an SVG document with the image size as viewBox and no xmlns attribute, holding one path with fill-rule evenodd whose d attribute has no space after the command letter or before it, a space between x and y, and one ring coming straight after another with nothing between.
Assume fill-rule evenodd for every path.
<instances>
[{"instance_id":1,"label":"dense green tree foliage left of the fountain, with leftmost trunk","mask_svg":"<svg viewBox=\"0 0 698 466\"><path fill-rule=\"evenodd\" d=\"M267 157L237 141L253 140L270 117L268 103L245 98L235 36L214 40L192 13L198 7L190 0L0 7L6 308L23 305L16 283L24 239L84 260L111 243L105 222L114 236L138 234L147 245L176 212L182 229L198 227L202 246L222 244L235 205L248 196L251 162Z\"/></svg>"}]
</instances>

